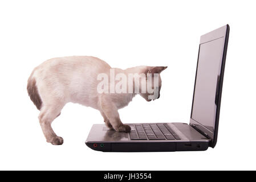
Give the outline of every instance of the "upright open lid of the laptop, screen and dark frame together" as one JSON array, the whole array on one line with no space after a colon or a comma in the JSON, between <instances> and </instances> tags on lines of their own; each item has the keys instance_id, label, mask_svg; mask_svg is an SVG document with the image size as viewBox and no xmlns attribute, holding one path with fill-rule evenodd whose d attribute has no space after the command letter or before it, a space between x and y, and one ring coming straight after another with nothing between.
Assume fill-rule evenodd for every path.
<instances>
[{"instance_id":1,"label":"upright open lid of the laptop, screen and dark frame together","mask_svg":"<svg viewBox=\"0 0 256 182\"><path fill-rule=\"evenodd\" d=\"M217 142L228 39L228 24L200 39L190 125L212 139L211 147Z\"/></svg>"}]
</instances>

